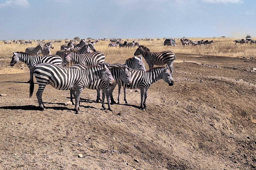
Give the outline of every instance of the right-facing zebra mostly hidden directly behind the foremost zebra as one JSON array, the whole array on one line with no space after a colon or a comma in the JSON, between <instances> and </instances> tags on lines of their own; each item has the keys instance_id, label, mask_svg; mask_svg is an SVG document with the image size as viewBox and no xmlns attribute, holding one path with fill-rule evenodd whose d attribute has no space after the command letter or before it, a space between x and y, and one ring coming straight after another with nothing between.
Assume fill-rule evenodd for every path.
<instances>
[{"instance_id":1,"label":"right-facing zebra mostly hidden directly behind the foremost zebra","mask_svg":"<svg viewBox=\"0 0 256 170\"><path fill-rule=\"evenodd\" d=\"M128 67L125 66L125 65L121 65L121 64L107 64L105 63L105 65L109 65L108 66L108 69L110 70L115 82L117 81L122 81L124 82L124 84L126 86L130 86L130 83L131 83L131 75L130 75L130 72L128 71ZM88 68L87 66L85 65L81 65L81 64L75 64L73 66L71 66L70 68L78 68L78 69L86 69ZM116 85L115 83L113 85ZM100 93L100 90L103 91L103 94L102 94L102 108L105 110L106 107L105 107L105 96L107 98L107 103L108 103L108 110L112 111L111 107L110 107L110 90L111 90L111 87L106 83L104 82L102 79L99 79L97 81L94 81L94 82L91 82L90 84L88 84L86 86L86 88L88 89L92 89L92 90L97 90L97 100L98 100L98 95ZM74 91L70 90L70 101L72 103L72 105L74 104L73 103L73 96L72 94L74 95Z\"/></svg>"}]
</instances>

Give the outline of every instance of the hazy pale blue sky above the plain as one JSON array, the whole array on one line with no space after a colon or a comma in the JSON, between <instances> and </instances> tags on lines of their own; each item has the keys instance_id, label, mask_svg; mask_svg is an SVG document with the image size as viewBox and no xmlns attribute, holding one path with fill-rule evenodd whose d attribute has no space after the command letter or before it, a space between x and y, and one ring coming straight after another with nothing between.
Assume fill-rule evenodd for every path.
<instances>
[{"instance_id":1,"label":"hazy pale blue sky above the plain","mask_svg":"<svg viewBox=\"0 0 256 170\"><path fill-rule=\"evenodd\" d=\"M256 36L256 0L0 0L0 40Z\"/></svg>"}]
</instances>

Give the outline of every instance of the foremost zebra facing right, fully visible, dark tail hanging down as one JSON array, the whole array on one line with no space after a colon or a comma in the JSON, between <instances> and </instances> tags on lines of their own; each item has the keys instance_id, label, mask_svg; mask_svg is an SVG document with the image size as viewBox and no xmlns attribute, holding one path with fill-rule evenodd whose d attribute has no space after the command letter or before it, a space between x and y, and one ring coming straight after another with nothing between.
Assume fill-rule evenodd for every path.
<instances>
[{"instance_id":1,"label":"foremost zebra facing right, fully visible, dark tail hanging down","mask_svg":"<svg viewBox=\"0 0 256 170\"><path fill-rule=\"evenodd\" d=\"M86 69L70 69L64 68L51 63L38 64L35 67L34 75L38 82L38 90L36 93L37 101L41 111L45 110L42 95L47 84L58 90L74 90L75 94L75 111L80 113L79 100L83 89L90 83L102 79L109 86L115 83L111 72L105 66L95 65ZM34 92L34 80L30 81L29 97Z\"/></svg>"}]
</instances>

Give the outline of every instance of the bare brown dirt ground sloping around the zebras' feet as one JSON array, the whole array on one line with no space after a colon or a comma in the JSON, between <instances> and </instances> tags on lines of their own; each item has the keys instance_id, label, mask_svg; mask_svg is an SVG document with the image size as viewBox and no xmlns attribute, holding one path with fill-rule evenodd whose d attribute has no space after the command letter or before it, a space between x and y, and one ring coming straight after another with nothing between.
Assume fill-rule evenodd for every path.
<instances>
[{"instance_id":1,"label":"bare brown dirt ground sloping around the zebras' feet","mask_svg":"<svg viewBox=\"0 0 256 170\"><path fill-rule=\"evenodd\" d=\"M174 86L153 84L147 110L135 90L110 112L85 89L79 115L69 91L47 86L41 112L29 73L0 75L0 170L256 169L256 73L245 71L256 62L177 54L174 66Z\"/></svg>"}]
</instances>

